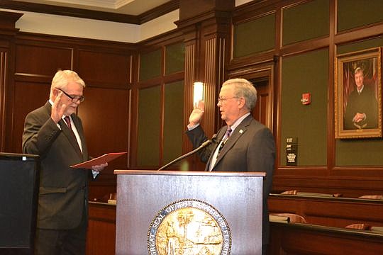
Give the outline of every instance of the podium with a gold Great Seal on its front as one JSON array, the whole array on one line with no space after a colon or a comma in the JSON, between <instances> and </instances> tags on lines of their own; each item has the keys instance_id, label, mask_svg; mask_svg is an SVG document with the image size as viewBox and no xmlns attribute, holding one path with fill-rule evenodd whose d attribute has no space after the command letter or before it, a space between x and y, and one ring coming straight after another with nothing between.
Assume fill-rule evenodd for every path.
<instances>
[{"instance_id":1,"label":"podium with a gold Great Seal on its front","mask_svg":"<svg viewBox=\"0 0 383 255\"><path fill-rule=\"evenodd\" d=\"M262 254L265 173L114 173L116 254Z\"/></svg>"}]
</instances>

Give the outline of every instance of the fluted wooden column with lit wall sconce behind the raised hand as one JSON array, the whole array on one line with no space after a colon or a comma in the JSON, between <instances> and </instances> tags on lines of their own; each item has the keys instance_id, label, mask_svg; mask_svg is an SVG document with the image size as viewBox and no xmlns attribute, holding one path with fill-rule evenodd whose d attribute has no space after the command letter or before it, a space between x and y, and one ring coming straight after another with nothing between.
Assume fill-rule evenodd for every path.
<instances>
[{"instance_id":1,"label":"fluted wooden column with lit wall sconce behind the raised hand","mask_svg":"<svg viewBox=\"0 0 383 255\"><path fill-rule=\"evenodd\" d=\"M201 125L208 137L221 127L216 98L226 79L225 67L230 59L230 23L234 4L232 0L181 0L179 3L177 26L184 34L185 43L185 98L193 97L194 81L204 82L205 114ZM184 121L188 123L193 102L185 101L184 109ZM187 140L184 140L184 148L191 149ZM191 169L202 170L204 166L197 161Z\"/></svg>"}]
</instances>

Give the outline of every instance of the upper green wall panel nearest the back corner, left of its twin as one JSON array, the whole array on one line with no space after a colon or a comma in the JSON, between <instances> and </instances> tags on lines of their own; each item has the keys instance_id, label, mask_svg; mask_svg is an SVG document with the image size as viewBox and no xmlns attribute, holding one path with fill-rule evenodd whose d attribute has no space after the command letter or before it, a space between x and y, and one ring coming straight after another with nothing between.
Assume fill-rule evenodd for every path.
<instances>
[{"instance_id":1,"label":"upper green wall panel nearest the back corner, left of its twin","mask_svg":"<svg viewBox=\"0 0 383 255\"><path fill-rule=\"evenodd\" d=\"M161 50L140 55L140 81L161 75Z\"/></svg>"}]
</instances>

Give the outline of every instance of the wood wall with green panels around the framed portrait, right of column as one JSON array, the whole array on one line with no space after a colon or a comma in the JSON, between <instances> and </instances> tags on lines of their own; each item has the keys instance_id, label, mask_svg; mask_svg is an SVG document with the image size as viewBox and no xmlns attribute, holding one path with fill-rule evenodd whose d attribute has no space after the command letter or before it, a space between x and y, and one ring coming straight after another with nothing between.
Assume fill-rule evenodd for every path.
<instances>
[{"instance_id":1,"label":"wood wall with green panels around the framed portrait, right of column","mask_svg":"<svg viewBox=\"0 0 383 255\"><path fill-rule=\"evenodd\" d=\"M358 159L379 153L382 139L345 141L334 137L335 56L340 50L383 46L383 16L374 11L382 8L382 2L372 1L370 11L357 11L360 4L357 0L250 1L233 12L228 75L247 77L262 72L267 64L274 70L270 85L277 143L275 193L291 189L343 193L345 197L383 193L381 158L374 157L374 162L363 165ZM270 41L267 47L265 41ZM305 92L312 93L310 106L299 101ZM289 136L299 138L296 166L286 164ZM348 152L355 150L357 157L350 156ZM340 157L347 164L339 164Z\"/></svg>"}]
</instances>

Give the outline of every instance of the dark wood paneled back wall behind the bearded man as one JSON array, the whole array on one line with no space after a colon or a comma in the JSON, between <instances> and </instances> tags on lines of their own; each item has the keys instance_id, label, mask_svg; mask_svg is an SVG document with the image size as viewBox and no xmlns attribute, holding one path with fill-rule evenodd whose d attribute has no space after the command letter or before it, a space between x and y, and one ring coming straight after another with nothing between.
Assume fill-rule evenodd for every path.
<instances>
[{"instance_id":1,"label":"dark wood paneled back wall behind the bearded man","mask_svg":"<svg viewBox=\"0 0 383 255\"><path fill-rule=\"evenodd\" d=\"M24 118L48 100L57 69L72 69L87 84L77 114L89 154L129 152L132 52L135 45L128 43L55 35L16 31L0 38L1 151L22 152ZM127 156L111 162L91 182L90 198L116 192L113 170L128 167Z\"/></svg>"}]
</instances>

